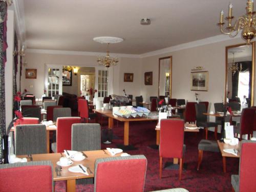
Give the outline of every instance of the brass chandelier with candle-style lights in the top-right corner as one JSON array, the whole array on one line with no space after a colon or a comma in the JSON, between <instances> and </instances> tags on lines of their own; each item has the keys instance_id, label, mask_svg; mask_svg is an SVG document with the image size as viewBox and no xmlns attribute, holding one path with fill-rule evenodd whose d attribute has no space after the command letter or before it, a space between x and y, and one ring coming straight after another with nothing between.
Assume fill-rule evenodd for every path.
<instances>
[{"instance_id":1,"label":"brass chandelier with candle-style lights in the top-right corner","mask_svg":"<svg viewBox=\"0 0 256 192\"><path fill-rule=\"evenodd\" d=\"M223 34L229 35L230 37L235 37L238 35L239 31L242 30L242 37L247 41L247 44L250 44L250 40L256 36L256 21L255 21L255 12L253 11L254 0L247 0L247 7L246 7L246 15L240 16L234 25L232 26L232 8L233 5L229 4L228 9L228 16L226 20L228 21L228 25L226 27L227 32L224 31L224 11L221 10L220 13L220 22L218 25L220 26L220 30Z\"/></svg>"}]
</instances>

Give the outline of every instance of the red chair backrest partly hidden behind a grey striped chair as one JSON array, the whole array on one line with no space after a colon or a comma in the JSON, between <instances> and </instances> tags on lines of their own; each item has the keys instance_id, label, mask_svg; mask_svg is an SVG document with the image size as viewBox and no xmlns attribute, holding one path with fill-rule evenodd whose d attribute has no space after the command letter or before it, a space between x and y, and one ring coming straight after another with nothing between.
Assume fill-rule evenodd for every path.
<instances>
[{"instance_id":1,"label":"red chair backrest partly hidden behind a grey striped chair","mask_svg":"<svg viewBox=\"0 0 256 192\"><path fill-rule=\"evenodd\" d=\"M57 108L61 109L61 108ZM54 109L56 110L56 109ZM71 127L74 123L81 123L80 117L58 117L56 131L57 153L63 150L71 150Z\"/></svg>"}]
</instances>

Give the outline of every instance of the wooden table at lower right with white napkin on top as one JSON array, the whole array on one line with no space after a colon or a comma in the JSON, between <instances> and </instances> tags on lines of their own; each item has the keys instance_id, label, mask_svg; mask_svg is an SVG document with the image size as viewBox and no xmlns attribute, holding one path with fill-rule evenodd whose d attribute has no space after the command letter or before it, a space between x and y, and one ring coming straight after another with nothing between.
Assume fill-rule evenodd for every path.
<instances>
[{"instance_id":1,"label":"wooden table at lower right with white napkin on top","mask_svg":"<svg viewBox=\"0 0 256 192\"><path fill-rule=\"evenodd\" d=\"M241 141L239 141L238 145L234 145L234 146L226 144L224 142L220 142L219 140L217 141L217 143L220 148L220 152L221 152L221 156L222 156L223 172L226 173L226 157L240 158ZM238 151L238 155L236 156L236 155L224 152L223 150L225 150L227 148L236 149Z\"/></svg>"}]
</instances>

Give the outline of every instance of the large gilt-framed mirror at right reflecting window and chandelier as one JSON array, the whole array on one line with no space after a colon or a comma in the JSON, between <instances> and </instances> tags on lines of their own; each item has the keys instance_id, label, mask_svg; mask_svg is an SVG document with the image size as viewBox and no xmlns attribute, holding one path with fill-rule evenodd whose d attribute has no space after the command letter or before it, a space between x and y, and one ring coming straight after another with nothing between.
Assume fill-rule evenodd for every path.
<instances>
[{"instance_id":1,"label":"large gilt-framed mirror at right reflecting window and chandelier","mask_svg":"<svg viewBox=\"0 0 256 192\"><path fill-rule=\"evenodd\" d=\"M226 47L225 103L228 98L248 107L253 105L254 69L255 41Z\"/></svg>"}]
</instances>

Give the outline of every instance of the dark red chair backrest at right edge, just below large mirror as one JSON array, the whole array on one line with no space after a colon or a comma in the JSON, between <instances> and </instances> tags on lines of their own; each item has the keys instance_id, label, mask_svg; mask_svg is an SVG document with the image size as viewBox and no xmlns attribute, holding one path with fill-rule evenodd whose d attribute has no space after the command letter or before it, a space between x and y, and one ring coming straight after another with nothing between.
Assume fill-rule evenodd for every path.
<instances>
[{"instance_id":1,"label":"dark red chair backrest at right edge, just below large mirror","mask_svg":"<svg viewBox=\"0 0 256 192\"><path fill-rule=\"evenodd\" d=\"M253 133L254 115L256 109L245 108L242 110L240 119L241 135Z\"/></svg>"}]
</instances>

